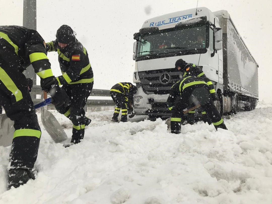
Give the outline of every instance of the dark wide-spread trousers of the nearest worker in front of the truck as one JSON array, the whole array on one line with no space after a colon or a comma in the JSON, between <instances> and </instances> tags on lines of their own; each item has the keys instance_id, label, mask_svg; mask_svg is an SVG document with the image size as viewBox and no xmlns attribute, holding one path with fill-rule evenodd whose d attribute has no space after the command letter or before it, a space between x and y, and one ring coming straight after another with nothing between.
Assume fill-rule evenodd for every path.
<instances>
[{"instance_id":1,"label":"dark wide-spread trousers of the nearest worker in front of the truck","mask_svg":"<svg viewBox=\"0 0 272 204\"><path fill-rule=\"evenodd\" d=\"M209 93L209 88L206 86L199 88L187 88L181 94L181 97L176 101L171 116L171 132L180 133L181 130L181 116L183 115L183 110L190 104L194 106L200 104L201 108L208 114L211 118L212 123L215 128L227 129L224 121L213 104L211 94Z\"/></svg>"}]
</instances>

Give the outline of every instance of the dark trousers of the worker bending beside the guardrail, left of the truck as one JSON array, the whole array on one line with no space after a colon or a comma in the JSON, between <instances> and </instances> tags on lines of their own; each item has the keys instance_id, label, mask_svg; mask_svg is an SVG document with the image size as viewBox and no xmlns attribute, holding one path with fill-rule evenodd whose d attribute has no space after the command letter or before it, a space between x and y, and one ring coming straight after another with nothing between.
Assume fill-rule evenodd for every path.
<instances>
[{"instance_id":1,"label":"dark trousers of the worker bending beside the guardrail, left of the truck","mask_svg":"<svg viewBox=\"0 0 272 204\"><path fill-rule=\"evenodd\" d=\"M115 121L118 120L118 115L120 113L120 110L122 109L121 122L127 122L128 104L126 102L125 96L115 91L110 91L110 96L116 104L112 119Z\"/></svg>"}]
</instances>

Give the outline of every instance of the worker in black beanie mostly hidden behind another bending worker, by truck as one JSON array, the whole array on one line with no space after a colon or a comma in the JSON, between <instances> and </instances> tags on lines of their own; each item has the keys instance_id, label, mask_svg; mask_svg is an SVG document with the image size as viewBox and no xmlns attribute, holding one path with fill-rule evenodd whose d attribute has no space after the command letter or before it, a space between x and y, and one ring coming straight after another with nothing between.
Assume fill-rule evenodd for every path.
<instances>
[{"instance_id":1,"label":"worker in black beanie mostly hidden behind another bending worker, by truck","mask_svg":"<svg viewBox=\"0 0 272 204\"><path fill-rule=\"evenodd\" d=\"M214 89L214 85L212 84L211 80L206 77L205 73L202 71L202 69L198 66L196 66L193 63L187 63L182 59L179 59L176 61L175 63L175 67L183 72L183 77L186 76L197 76L202 78L208 85L209 85L209 92L211 93L212 96L212 100L215 101L216 100L216 94L215 94L215 89ZM191 104L188 109L192 108L193 105ZM201 108L200 108L201 110ZM206 112L204 110L202 111L202 119L203 121L206 123L208 122L209 125L212 124L211 119L209 118L209 116L206 114ZM195 111L192 110L190 112L187 113L187 123L189 124L194 124L195 122Z\"/></svg>"}]
</instances>

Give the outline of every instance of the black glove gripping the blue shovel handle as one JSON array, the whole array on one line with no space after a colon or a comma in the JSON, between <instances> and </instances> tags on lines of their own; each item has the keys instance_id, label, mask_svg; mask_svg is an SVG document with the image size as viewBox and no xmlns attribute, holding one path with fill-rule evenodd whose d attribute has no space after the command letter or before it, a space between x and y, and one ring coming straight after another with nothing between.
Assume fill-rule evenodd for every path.
<instances>
[{"instance_id":1,"label":"black glove gripping the blue shovel handle","mask_svg":"<svg viewBox=\"0 0 272 204\"><path fill-rule=\"evenodd\" d=\"M49 90L49 93L51 95L51 97L54 99L54 102L52 104L54 104L55 106L64 106L67 107L69 105L69 97L66 94L65 91L61 90L59 86L55 86L54 88L51 88Z\"/></svg>"}]
</instances>

